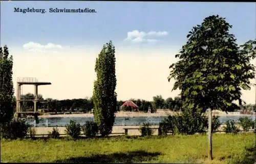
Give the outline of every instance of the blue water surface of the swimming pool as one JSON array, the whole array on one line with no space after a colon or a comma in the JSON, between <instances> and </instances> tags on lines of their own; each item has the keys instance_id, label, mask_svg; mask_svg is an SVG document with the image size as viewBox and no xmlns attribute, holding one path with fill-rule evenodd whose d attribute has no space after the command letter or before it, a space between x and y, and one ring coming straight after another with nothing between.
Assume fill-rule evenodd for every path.
<instances>
[{"instance_id":1,"label":"blue water surface of the swimming pool","mask_svg":"<svg viewBox=\"0 0 256 164\"><path fill-rule=\"evenodd\" d=\"M239 117L245 116L221 116L219 119L221 123L224 123L228 119L232 119L234 121L238 121ZM116 117L115 118L115 126L123 126L123 125L143 125L143 123L150 123L151 125L159 125L159 123L166 117L130 117L129 119L125 119L126 117ZM250 116L251 119L255 120L255 116ZM48 120L48 121L47 121ZM86 123L86 121L93 121L93 117L58 117L58 118L39 118L36 121L36 127L46 127L48 126L65 126L70 120L74 120L81 125ZM27 119L28 123L34 126L34 119Z\"/></svg>"}]
</instances>

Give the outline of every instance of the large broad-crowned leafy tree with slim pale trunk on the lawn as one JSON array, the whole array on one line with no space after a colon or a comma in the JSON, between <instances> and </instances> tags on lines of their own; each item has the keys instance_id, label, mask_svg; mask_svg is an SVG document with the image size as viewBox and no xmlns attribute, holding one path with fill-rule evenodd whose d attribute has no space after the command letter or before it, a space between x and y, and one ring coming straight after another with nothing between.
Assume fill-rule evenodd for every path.
<instances>
[{"instance_id":1,"label":"large broad-crowned leafy tree with slim pale trunk on the lawn","mask_svg":"<svg viewBox=\"0 0 256 164\"><path fill-rule=\"evenodd\" d=\"M241 48L232 26L219 15L206 17L202 24L194 26L170 65L171 78L176 79L173 90L181 90L183 105L208 111L209 154L212 159L211 120L212 110L226 111L234 100L241 100L241 88L250 89L249 79L254 78L255 68L250 60L255 58L256 41L248 41Z\"/></svg>"}]
</instances>

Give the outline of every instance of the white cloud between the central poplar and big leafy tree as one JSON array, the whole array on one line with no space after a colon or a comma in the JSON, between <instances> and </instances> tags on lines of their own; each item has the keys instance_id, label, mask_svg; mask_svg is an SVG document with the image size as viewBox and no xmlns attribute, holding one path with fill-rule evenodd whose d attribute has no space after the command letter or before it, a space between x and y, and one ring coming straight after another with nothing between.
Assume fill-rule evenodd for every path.
<instances>
[{"instance_id":1,"label":"white cloud between the central poplar and big leafy tree","mask_svg":"<svg viewBox=\"0 0 256 164\"><path fill-rule=\"evenodd\" d=\"M125 41L130 41L133 43L142 43L142 42L157 42L156 39L146 39L147 37L157 37L157 36L166 36L168 35L168 32L166 31L150 31L148 33L143 32L143 31L138 31L138 30L133 30L131 32L127 33L127 38L125 38Z\"/></svg>"}]
</instances>

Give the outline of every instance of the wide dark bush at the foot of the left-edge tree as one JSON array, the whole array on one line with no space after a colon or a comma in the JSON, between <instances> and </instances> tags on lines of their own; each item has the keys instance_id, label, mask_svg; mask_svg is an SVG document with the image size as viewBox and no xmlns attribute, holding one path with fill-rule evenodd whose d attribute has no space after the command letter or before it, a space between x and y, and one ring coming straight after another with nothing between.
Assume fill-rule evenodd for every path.
<instances>
[{"instance_id":1,"label":"wide dark bush at the foot of the left-edge tree","mask_svg":"<svg viewBox=\"0 0 256 164\"><path fill-rule=\"evenodd\" d=\"M5 139L23 139L28 133L29 124L24 119L13 119L1 128L1 136Z\"/></svg>"}]
</instances>

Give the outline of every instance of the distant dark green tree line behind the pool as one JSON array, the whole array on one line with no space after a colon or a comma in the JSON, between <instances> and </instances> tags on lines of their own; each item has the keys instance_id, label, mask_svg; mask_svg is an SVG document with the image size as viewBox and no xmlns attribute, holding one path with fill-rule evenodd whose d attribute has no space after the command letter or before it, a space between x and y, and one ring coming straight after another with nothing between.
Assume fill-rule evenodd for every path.
<instances>
[{"instance_id":1,"label":"distant dark green tree line behind the pool","mask_svg":"<svg viewBox=\"0 0 256 164\"><path fill-rule=\"evenodd\" d=\"M14 97L15 99L15 97ZM27 93L25 95L21 95L21 99L32 100L34 99L34 94ZM37 108L43 109L45 112L48 109L49 112L91 112L94 105L92 98L79 98L79 99L64 99L64 100L56 100L52 98L44 99L41 94L38 94L39 100L48 100L45 102L38 102ZM16 100L16 99L15 99ZM179 96L174 98L168 97L167 99L163 99L161 95L157 95L153 97L153 101L147 101L143 99L129 99L133 101L139 108L140 112L147 112L148 108L151 108L154 113L156 109L169 109L175 112L182 111L182 100ZM119 100L117 101L117 111L124 111L125 108L121 108L121 105L125 101ZM13 105L16 105L14 102ZM21 102L22 111L33 111L34 102L32 101L23 101ZM256 112L255 104L245 104L240 106L241 111L243 112ZM230 112L237 111L239 108L229 107Z\"/></svg>"}]
</instances>

